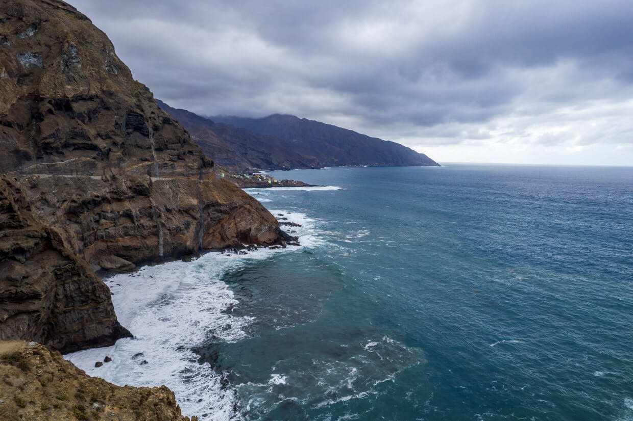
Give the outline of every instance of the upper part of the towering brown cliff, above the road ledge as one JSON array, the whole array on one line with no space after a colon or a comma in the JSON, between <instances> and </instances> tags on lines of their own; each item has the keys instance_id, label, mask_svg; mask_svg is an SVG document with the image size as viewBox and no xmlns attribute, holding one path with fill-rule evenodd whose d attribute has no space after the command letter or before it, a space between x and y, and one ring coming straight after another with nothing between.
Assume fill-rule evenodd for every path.
<instances>
[{"instance_id":1,"label":"upper part of the towering brown cliff, above the road ledge","mask_svg":"<svg viewBox=\"0 0 633 421\"><path fill-rule=\"evenodd\" d=\"M191 176L211 161L61 1L0 3L0 172Z\"/></svg>"}]
</instances>

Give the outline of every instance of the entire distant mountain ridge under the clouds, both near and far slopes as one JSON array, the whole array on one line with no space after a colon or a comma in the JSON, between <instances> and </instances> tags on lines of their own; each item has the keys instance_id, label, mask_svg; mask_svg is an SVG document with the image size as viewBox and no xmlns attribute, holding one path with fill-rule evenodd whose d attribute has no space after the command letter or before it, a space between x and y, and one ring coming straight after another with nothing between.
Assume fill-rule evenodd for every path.
<instances>
[{"instance_id":1,"label":"entire distant mountain ridge under the clouds, both near and far slopes","mask_svg":"<svg viewBox=\"0 0 633 421\"><path fill-rule=\"evenodd\" d=\"M157 102L194 136L211 159L232 171L361 165L439 166L425 154L391 140L292 114L271 114L261 119L235 116L214 119ZM231 157L227 157L227 151Z\"/></svg>"}]
</instances>

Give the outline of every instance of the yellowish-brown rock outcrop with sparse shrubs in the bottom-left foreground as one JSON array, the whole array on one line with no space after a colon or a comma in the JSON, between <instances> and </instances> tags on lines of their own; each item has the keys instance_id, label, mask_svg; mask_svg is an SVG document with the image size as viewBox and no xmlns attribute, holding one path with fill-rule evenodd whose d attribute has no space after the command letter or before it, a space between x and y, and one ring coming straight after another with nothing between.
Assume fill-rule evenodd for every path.
<instances>
[{"instance_id":1,"label":"yellowish-brown rock outcrop with sparse shrubs in the bottom-left foreground","mask_svg":"<svg viewBox=\"0 0 633 421\"><path fill-rule=\"evenodd\" d=\"M0 377L6 421L189 421L167 387L115 386L37 344L0 341Z\"/></svg>"}]
</instances>

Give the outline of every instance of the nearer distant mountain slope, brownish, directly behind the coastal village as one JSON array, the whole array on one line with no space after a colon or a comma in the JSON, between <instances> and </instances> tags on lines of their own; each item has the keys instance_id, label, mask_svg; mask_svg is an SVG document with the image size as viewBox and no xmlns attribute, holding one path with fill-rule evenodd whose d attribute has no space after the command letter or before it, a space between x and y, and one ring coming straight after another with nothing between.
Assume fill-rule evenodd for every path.
<instances>
[{"instance_id":1,"label":"nearer distant mountain slope, brownish, directly behind the coastal village","mask_svg":"<svg viewBox=\"0 0 633 421\"><path fill-rule=\"evenodd\" d=\"M316 157L299 154L285 139L216 124L185 109L170 107L160 100L156 102L189 131L206 156L223 168L253 171L322 167Z\"/></svg>"}]
</instances>

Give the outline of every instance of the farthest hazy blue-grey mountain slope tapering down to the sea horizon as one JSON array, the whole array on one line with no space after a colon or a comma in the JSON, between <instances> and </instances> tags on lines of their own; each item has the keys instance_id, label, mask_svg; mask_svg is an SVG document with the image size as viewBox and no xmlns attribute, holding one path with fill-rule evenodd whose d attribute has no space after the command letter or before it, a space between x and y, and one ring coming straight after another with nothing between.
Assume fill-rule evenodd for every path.
<instances>
[{"instance_id":1,"label":"farthest hazy blue-grey mountain slope tapering down to the sea horizon","mask_svg":"<svg viewBox=\"0 0 633 421\"><path fill-rule=\"evenodd\" d=\"M323 166L439 165L425 154L419 154L399 143L288 114L273 114L258 119L234 116L216 116L211 119L256 133L284 138L290 142L292 150L316 157Z\"/></svg>"}]
</instances>

